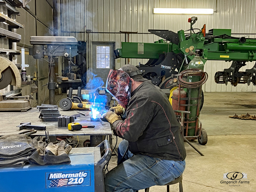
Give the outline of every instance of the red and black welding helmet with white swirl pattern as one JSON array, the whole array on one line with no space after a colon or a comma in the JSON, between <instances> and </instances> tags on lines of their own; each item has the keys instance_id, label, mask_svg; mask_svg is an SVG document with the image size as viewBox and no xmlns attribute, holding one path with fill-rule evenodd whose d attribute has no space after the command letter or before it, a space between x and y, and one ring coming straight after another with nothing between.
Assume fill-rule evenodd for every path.
<instances>
[{"instance_id":1,"label":"red and black welding helmet with white swirl pattern","mask_svg":"<svg viewBox=\"0 0 256 192\"><path fill-rule=\"evenodd\" d=\"M123 70L111 69L106 82L107 91L115 97L119 105L127 108L131 98L132 82L130 76Z\"/></svg>"}]
</instances>

